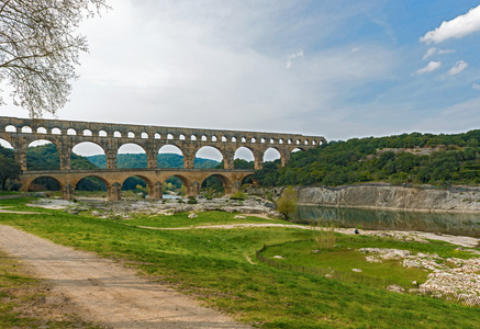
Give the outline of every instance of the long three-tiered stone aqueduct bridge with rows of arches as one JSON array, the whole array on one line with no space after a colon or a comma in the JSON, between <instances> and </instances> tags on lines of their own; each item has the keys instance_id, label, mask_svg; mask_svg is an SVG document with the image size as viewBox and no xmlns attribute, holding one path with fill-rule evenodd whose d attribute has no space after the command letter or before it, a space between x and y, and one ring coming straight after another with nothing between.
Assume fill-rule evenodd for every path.
<instances>
[{"instance_id":1,"label":"long three-tiered stone aqueduct bridge with rows of arches","mask_svg":"<svg viewBox=\"0 0 480 329\"><path fill-rule=\"evenodd\" d=\"M249 149L255 158L255 169L263 168L264 154L269 148L279 151L284 166L295 148L302 150L325 143L324 137L302 136L298 134L274 134L258 132L196 129L164 126L124 125L113 123L77 122L60 120L32 120L0 116L0 138L9 141L20 163L23 174L20 178L21 190L27 191L37 178L49 177L58 181L63 197L72 198L76 184L86 177L96 177L103 181L109 198L120 200L123 182L136 175L142 178L149 191L150 198L161 198L163 183L169 177L179 178L186 186L186 195L198 195L202 182L210 175L217 177L225 193L238 191L241 182L252 170L234 169L235 151L241 147ZM60 156L60 170L29 171L26 168L26 148L35 140L48 140L56 145ZM85 141L100 146L107 156L107 169L71 170L72 148ZM148 159L145 169L116 168L116 154L125 144L142 147ZM183 155L183 169L157 168L157 155L165 145L178 147ZM224 169L194 169L196 154L204 146L214 147L223 157Z\"/></svg>"}]
</instances>

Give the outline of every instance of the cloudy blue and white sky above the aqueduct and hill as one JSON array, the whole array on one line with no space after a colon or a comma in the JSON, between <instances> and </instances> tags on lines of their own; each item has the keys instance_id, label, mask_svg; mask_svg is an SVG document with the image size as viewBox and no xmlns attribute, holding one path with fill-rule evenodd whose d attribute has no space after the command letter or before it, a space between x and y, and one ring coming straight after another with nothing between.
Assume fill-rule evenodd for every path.
<instances>
[{"instance_id":1,"label":"cloudy blue and white sky above the aqueduct and hill","mask_svg":"<svg viewBox=\"0 0 480 329\"><path fill-rule=\"evenodd\" d=\"M327 140L480 126L480 0L110 5L79 30L90 52L57 118Z\"/></svg>"}]
</instances>

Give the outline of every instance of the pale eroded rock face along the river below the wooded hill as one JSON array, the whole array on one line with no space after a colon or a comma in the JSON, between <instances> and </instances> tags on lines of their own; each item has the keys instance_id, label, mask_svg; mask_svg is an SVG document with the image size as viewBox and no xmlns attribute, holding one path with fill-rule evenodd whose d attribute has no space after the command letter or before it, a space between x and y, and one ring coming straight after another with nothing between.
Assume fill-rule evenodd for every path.
<instances>
[{"instance_id":1,"label":"pale eroded rock face along the river below the wooded hill","mask_svg":"<svg viewBox=\"0 0 480 329\"><path fill-rule=\"evenodd\" d=\"M303 188L299 204L424 212L480 212L480 190L416 189L355 185L337 189Z\"/></svg>"}]
</instances>

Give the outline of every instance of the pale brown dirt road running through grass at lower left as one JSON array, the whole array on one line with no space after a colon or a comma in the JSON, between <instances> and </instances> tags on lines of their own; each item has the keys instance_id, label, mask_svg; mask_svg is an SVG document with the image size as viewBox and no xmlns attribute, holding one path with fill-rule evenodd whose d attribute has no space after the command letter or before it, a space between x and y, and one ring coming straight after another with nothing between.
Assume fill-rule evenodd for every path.
<instances>
[{"instance_id":1,"label":"pale brown dirt road running through grass at lower left","mask_svg":"<svg viewBox=\"0 0 480 329\"><path fill-rule=\"evenodd\" d=\"M78 305L83 319L109 328L249 328L132 270L0 225L0 249Z\"/></svg>"}]
</instances>

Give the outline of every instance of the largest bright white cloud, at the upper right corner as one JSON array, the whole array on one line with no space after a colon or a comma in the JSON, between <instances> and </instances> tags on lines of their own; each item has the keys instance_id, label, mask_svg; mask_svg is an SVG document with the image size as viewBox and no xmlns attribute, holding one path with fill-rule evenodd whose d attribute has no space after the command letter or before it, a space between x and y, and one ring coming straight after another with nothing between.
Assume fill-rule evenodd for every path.
<instances>
[{"instance_id":1,"label":"largest bright white cloud, at the upper right corner","mask_svg":"<svg viewBox=\"0 0 480 329\"><path fill-rule=\"evenodd\" d=\"M438 44L449 38L461 38L477 31L480 31L480 5L451 21L444 21L440 26L427 32L420 41L428 45Z\"/></svg>"}]
</instances>

